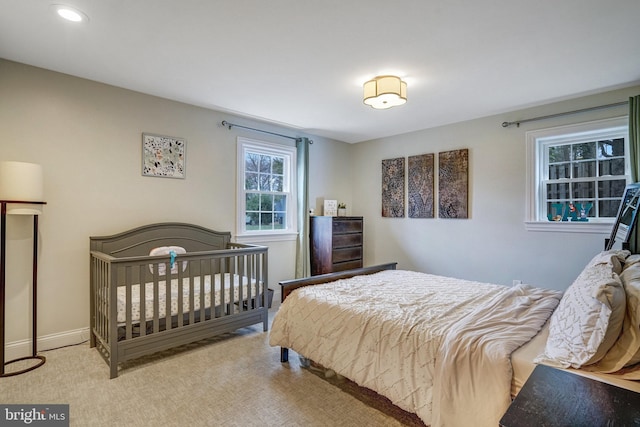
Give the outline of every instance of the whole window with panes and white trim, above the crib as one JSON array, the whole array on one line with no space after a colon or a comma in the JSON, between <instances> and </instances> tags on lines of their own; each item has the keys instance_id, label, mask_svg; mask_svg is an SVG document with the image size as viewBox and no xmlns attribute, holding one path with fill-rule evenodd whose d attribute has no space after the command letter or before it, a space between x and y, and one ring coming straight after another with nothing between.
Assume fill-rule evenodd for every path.
<instances>
[{"instance_id":1,"label":"whole window with panes and white trim, above the crib","mask_svg":"<svg viewBox=\"0 0 640 427\"><path fill-rule=\"evenodd\" d=\"M295 147L238 138L238 234L295 233Z\"/></svg>"}]
</instances>

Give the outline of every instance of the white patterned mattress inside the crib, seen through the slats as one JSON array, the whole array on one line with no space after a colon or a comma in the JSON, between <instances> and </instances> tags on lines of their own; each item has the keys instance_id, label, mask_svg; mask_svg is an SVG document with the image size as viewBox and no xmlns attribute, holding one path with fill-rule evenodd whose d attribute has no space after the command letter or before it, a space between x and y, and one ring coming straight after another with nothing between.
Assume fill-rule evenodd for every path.
<instances>
[{"instance_id":1,"label":"white patterned mattress inside the crib, seen through the slats","mask_svg":"<svg viewBox=\"0 0 640 427\"><path fill-rule=\"evenodd\" d=\"M230 301L238 302L240 299L240 288L242 287L243 299L246 299L249 295L249 289L247 284L249 280L246 276L239 276L237 274L231 275L229 273L224 274L224 279L221 280L220 274L214 275L214 306L220 306L220 290L221 284L224 282L224 301L228 304ZM167 313L167 287L165 281L158 282L158 318L164 318ZM241 285L242 284L242 285ZM256 281L251 282L251 296L256 296ZM193 278L193 309L200 309L200 276ZM231 290L233 289L233 295ZM126 286L118 286L118 323L123 324L126 322ZM178 279L171 280L171 315L178 314L178 295L179 295ZM189 278L185 277L182 280L182 312L188 313L191 311L189 294L191 287L189 285ZM262 293L262 284L258 288L258 294ZM233 296L233 297L232 297ZM149 282L145 284L145 319L153 319L154 314L154 284ZM211 307L211 276L204 276L204 308ZM140 321L140 285L131 286L131 317L132 323Z\"/></svg>"}]
</instances>

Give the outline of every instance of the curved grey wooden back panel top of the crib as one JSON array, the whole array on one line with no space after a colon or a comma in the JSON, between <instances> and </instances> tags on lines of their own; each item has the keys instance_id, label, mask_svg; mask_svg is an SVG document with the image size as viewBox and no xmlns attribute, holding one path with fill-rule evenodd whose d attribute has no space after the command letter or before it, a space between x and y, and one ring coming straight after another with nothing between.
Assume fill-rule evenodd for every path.
<instances>
[{"instance_id":1,"label":"curved grey wooden back panel top of the crib","mask_svg":"<svg viewBox=\"0 0 640 427\"><path fill-rule=\"evenodd\" d=\"M159 246L182 246L188 252L227 249L231 233L193 224L163 222L89 239L90 250L121 258L145 256Z\"/></svg>"}]
</instances>

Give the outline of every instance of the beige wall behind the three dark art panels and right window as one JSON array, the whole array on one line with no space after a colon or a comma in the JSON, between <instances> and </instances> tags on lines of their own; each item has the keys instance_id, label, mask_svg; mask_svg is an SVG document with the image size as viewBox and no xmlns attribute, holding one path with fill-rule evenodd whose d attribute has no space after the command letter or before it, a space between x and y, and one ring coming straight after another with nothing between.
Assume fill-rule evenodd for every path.
<instances>
[{"instance_id":1,"label":"beige wall behind the three dark art panels and right window","mask_svg":"<svg viewBox=\"0 0 640 427\"><path fill-rule=\"evenodd\" d=\"M501 123L626 101L638 93L640 87L611 91L357 144L352 190L354 207L367 213L367 263L395 260L401 268L434 274L504 285L517 279L566 289L603 248L608 236L525 230L525 132L627 115L627 108L529 122L520 127L503 128ZM469 219L380 216L382 159L461 148L469 149Z\"/></svg>"}]
</instances>

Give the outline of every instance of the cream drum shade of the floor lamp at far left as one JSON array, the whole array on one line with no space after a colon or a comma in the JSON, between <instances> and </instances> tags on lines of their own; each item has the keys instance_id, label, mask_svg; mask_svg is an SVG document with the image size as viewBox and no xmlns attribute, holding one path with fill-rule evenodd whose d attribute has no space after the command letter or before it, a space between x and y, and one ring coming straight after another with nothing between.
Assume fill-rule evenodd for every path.
<instances>
[{"instance_id":1,"label":"cream drum shade of the floor lamp at far left","mask_svg":"<svg viewBox=\"0 0 640 427\"><path fill-rule=\"evenodd\" d=\"M0 200L42 202L44 185L42 166L35 163L0 162ZM13 215L38 215L42 205L7 204L7 213Z\"/></svg>"}]
</instances>

